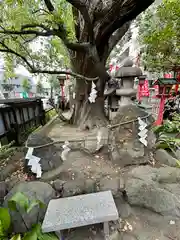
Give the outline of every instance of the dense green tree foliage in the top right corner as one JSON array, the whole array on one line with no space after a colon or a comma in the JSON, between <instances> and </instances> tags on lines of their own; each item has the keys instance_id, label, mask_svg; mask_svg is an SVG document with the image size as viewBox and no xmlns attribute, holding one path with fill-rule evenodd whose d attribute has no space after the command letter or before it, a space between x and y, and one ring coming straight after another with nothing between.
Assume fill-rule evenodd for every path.
<instances>
[{"instance_id":1,"label":"dense green tree foliage in the top right corner","mask_svg":"<svg viewBox=\"0 0 180 240\"><path fill-rule=\"evenodd\" d=\"M142 62L148 71L165 72L180 66L180 0L164 0L138 21Z\"/></svg>"}]
</instances>

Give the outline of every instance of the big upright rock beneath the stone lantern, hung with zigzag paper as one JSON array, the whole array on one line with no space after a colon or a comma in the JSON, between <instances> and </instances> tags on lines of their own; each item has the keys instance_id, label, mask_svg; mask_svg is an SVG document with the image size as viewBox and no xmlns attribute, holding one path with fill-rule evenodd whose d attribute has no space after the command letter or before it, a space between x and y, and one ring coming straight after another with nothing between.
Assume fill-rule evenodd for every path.
<instances>
[{"instance_id":1,"label":"big upright rock beneath the stone lantern, hung with zigzag paper","mask_svg":"<svg viewBox=\"0 0 180 240\"><path fill-rule=\"evenodd\" d=\"M148 151L146 151L144 145L139 141L138 117L147 116L147 112L138 108L135 105L120 106L116 117L113 119L112 125L119 124L120 122L128 122L128 124L122 124L115 128L110 135L109 142L112 146L112 161L119 164L121 167L128 165L139 165L148 162ZM152 124L153 119L151 116L147 117L148 127ZM150 129L149 129L150 130ZM151 133L150 133L151 135ZM149 136L150 149L153 145L152 136Z\"/></svg>"}]
</instances>

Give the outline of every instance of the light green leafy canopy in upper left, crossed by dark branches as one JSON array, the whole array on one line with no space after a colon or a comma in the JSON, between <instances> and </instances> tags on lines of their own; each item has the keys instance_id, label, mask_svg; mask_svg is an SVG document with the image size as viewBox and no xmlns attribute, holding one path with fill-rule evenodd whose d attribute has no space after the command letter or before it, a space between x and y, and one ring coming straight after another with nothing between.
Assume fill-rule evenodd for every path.
<instances>
[{"instance_id":1,"label":"light green leafy canopy in upper left, crossed by dark branches","mask_svg":"<svg viewBox=\"0 0 180 240\"><path fill-rule=\"evenodd\" d=\"M60 37L75 39L72 7L65 0L52 3L55 11L51 13L41 0L1 1L0 52L4 53L7 72L13 72L14 65L24 64L24 60L30 70L70 64Z\"/></svg>"}]
</instances>

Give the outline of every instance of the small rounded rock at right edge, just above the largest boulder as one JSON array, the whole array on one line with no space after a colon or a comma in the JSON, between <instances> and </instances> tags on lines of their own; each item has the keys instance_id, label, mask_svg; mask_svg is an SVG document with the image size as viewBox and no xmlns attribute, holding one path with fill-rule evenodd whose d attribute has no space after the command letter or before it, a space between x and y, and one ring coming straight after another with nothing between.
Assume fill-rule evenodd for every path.
<instances>
[{"instance_id":1,"label":"small rounded rock at right edge, just above the largest boulder","mask_svg":"<svg viewBox=\"0 0 180 240\"><path fill-rule=\"evenodd\" d=\"M165 164L170 167L177 166L177 159L173 158L166 150L158 149L154 154L155 160L160 164Z\"/></svg>"}]
</instances>

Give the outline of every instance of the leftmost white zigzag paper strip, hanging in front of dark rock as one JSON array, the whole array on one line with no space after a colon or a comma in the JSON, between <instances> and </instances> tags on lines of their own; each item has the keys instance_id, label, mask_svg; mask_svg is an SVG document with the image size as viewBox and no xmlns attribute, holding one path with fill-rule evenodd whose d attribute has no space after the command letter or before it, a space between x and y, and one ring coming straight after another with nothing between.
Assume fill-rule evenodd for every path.
<instances>
[{"instance_id":1,"label":"leftmost white zigzag paper strip, hanging in front of dark rock","mask_svg":"<svg viewBox=\"0 0 180 240\"><path fill-rule=\"evenodd\" d=\"M36 174L37 178L42 176L42 168L41 164L39 163L41 158L36 157L33 154L34 148L28 148L26 159L28 159L28 166L31 166L31 171Z\"/></svg>"}]
</instances>

